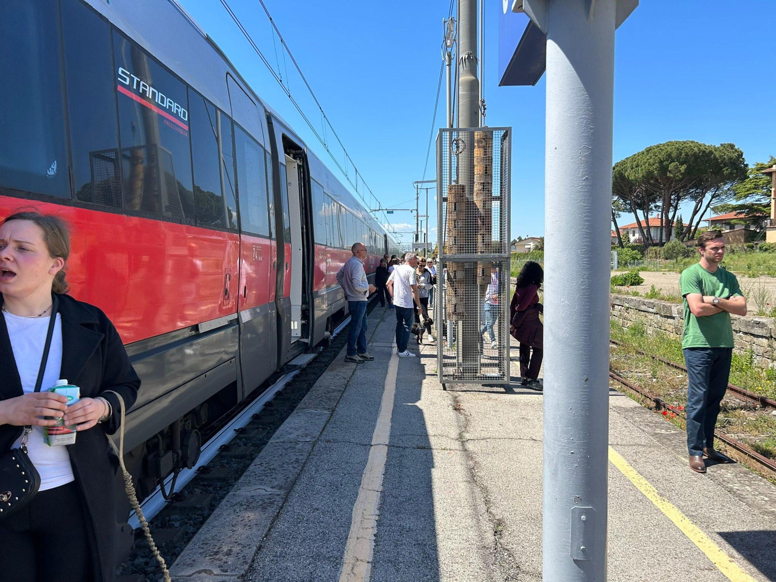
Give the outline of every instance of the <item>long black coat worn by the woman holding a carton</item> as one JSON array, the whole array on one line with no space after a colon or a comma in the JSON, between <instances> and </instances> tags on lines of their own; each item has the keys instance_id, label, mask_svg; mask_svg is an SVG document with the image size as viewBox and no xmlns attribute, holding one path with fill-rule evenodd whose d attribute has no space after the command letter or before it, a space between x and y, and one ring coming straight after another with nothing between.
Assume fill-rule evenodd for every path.
<instances>
[{"instance_id":1,"label":"long black coat worn by the woman holding a carton","mask_svg":"<svg viewBox=\"0 0 776 582\"><path fill-rule=\"evenodd\" d=\"M134 404L140 378L126 355L121 338L108 317L97 307L59 295L62 318L62 368L60 378L81 388L81 397L93 398L104 390L123 396L126 410ZM2 301L2 295L0 295ZM22 396L22 382L5 327L0 317L0 400ZM110 452L107 435L119 428L120 407L115 394L103 396L113 407L109 420L81 431L74 445L67 445L75 482L81 489L88 515L92 518L97 557L97 580L113 580L113 541L116 539L116 472L118 460ZM22 427L0 424L0 450L7 451ZM118 444L118 442L116 442Z\"/></svg>"}]
</instances>

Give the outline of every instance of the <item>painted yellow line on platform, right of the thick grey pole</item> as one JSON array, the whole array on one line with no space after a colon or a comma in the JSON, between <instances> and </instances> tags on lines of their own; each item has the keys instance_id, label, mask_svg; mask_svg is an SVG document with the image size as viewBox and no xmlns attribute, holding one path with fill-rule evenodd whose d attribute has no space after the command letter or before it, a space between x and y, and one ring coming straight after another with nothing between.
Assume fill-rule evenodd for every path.
<instances>
[{"instance_id":1,"label":"painted yellow line on platform, right of the thick grey pole","mask_svg":"<svg viewBox=\"0 0 776 582\"><path fill-rule=\"evenodd\" d=\"M665 497L662 497L652 484L644 479L636 469L628 464L628 462L620 456L620 454L609 447L609 461L612 465L620 469L620 472L628 477L628 479L636 485L636 489L644 494L644 497L649 499L655 504L656 508L663 511L663 514L667 516L677 528L681 529L681 532L686 535L691 542L698 546L703 553L705 553L708 559L712 560L712 563L717 566L720 572L722 572L728 580L731 582L756 582L756 580L749 574L741 570L740 566L733 562L733 559L722 551L708 535L705 535L697 525L692 523L689 518L683 514L677 507L668 501Z\"/></svg>"}]
</instances>

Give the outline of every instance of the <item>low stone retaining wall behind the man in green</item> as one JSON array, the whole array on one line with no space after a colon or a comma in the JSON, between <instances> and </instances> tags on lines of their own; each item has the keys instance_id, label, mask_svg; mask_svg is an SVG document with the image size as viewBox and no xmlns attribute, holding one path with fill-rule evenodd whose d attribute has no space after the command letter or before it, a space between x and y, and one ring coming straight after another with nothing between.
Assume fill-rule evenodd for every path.
<instances>
[{"instance_id":1,"label":"low stone retaining wall behind the man in green","mask_svg":"<svg viewBox=\"0 0 776 582\"><path fill-rule=\"evenodd\" d=\"M736 342L735 352L740 355L751 353L755 365L776 367L776 320L772 317L731 317L733 338ZM622 327L639 323L645 327L648 334L663 331L681 338L684 310L680 303L612 295L611 318L618 321Z\"/></svg>"}]
</instances>

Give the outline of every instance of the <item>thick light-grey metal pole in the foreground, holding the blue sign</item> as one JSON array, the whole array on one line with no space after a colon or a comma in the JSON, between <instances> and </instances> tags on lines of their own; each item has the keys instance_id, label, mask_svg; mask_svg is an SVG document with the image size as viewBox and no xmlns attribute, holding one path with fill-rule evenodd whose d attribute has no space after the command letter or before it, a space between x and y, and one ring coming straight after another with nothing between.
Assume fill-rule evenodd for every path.
<instances>
[{"instance_id":1,"label":"thick light-grey metal pole in the foreground, holding the blue sign","mask_svg":"<svg viewBox=\"0 0 776 582\"><path fill-rule=\"evenodd\" d=\"M545 580L603 582L607 577L615 28L637 4L523 3L547 35Z\"/></svg>"}]
</instances>

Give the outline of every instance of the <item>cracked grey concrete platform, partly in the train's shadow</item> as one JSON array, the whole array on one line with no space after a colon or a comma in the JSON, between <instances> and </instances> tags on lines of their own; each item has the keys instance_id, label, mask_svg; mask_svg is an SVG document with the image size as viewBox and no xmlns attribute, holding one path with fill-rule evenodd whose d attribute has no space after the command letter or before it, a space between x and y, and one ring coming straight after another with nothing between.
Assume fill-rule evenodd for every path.
<instances>
[{"instance_id":1,"label":"cracked grey concrete platform, partly in the train's shadow","mask_svg":"<svg viewBox=\"0 0 776 582\"><path fill-rule=\"evenodd\" d=\"M542 580L541 393L443 391L435 346L399 359L394 327L372 312L375 361L341 353L174 580ZM609 580L776 580L776 487L739 465L691 473L684 434L615 390L609 417L625 463L609 465Z\"/></svg>"}]
</instances>

